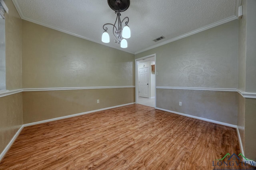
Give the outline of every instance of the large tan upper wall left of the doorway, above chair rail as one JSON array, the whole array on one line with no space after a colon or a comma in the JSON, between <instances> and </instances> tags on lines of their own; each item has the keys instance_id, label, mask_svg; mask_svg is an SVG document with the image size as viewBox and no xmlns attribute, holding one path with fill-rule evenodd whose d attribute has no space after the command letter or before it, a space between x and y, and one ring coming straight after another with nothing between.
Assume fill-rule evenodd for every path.
<instances>
[{"instance_id":1,"label":"large tan upper wall left of the doorway, above chair rail","mask_svg":"<svg viewBox=\"0 0 256 170\"><path fill-rule=\"evenodd\" d=\"M134 86L134 55L22 20L23 88Z\"/></svg>"}]
</instances>

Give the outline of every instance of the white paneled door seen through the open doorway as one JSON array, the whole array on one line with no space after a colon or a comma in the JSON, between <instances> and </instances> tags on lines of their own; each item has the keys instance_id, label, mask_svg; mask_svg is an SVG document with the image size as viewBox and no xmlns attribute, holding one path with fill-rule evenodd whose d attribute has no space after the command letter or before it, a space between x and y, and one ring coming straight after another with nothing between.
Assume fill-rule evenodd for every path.
<instances>
[{"instance_id":1,"label":"white paneled door seen through the open doorway","mask_svg":"<svg viewBox=\"0 0 256 170\"><path fill-rule=\"evenodd\" d=\"M139 96L149 98L149 68L139 69Z\"/></svg>"}]
</instances>

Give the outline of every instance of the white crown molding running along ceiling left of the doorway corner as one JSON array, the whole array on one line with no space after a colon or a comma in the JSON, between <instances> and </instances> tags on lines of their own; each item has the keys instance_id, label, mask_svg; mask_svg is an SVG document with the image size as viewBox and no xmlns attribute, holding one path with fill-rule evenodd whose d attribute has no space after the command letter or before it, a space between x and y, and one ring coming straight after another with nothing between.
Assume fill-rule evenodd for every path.
<instances>
[{"instance_id":1,"label":"white crown molding running along ceiling left of the doorway corner","mask_svg":"<svg viewBox=\"0 0 256 170\"><path fill-rule=\"evenodd\" d=\"M101 45L105 45L105 46L108 46L108 47L111 47L111 48L114 48L114 49L118 49L120 51L124 51L124 52L127 52L127 53L131 53L131 54L134 54L134 52L131 52L131 51L128 51L128 50L125 50L125 49L120 49L118 47L114 47L112 45L109 45L109 44L106 44L106 43L103 43L101 41L96 41L96 40L93 40L93 39L90 39L88 37L84 37L82 35L79 35L79 34L76 34L76 33L73 33L72 31L68 31L66 29L62 29L60 27L56 27L56 26L53 26L53 25L50 25L50 24L47 24L47 23L44 23L44 22L41 22L41 21L38 21L38 20L34 20L34 19L31 19L31 18L28 18L26 16L24 16L24 14L22 13L22 10L20 8L20 5L19 3L17 2L17 0L12 0L14 6L16 7L19 15L20 15L20 18L22 20L26 20L26 21L30 21L30 22L33 22L33 23L36 23L38 25L42 25L44 27L48 27L48 28L51 28L51 29L55 29L57 31L60 31L60 32L63 32L63 33L67 33L67 34L70 34L70 35L73 35L73 36L76 36L76 37L79 37L79 38L82 38L82 39L86 39L88 41L92 41L94 43L98 43L98 44L101 44Z\"/></svg>"}]
</instances>

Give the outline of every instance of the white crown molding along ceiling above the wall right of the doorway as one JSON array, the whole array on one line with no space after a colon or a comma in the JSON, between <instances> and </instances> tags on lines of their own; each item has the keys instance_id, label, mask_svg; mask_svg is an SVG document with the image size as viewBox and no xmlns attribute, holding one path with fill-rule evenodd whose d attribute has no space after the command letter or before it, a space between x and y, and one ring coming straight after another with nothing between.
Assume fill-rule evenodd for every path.
<instances>
[{"instance_id":1,"label":"white crown molding along ceiling above the wall right of the doorway","mask_svg":"<svg viewBox=\"0 0 256 170\"><path fill-rule=\"evenodd\" d=\"M153 45L153 46L151 46L151 47L142 49L142 50L140 50L140 51L135 52L135 54L142 53L142 52L144 52L144 51L148 51L148 50L154 49L154 48L156 48L156 47L160 47L160 46L162 46L162 45L165 45L165 44L171 43L171 42L173 42L173 41L176 41L176 40L178 40L178 39L182 39L182 38L188 37L188 36L190 36L190 35L199 33L199 32L201 32L201 31L205 31L206 29L210 29L210 28L212 28L212 27L216 27L216 26L218 26L218 25L221 25L221 24L223 24L223 23L227 23L227 22L229 22L229 21L233 21L233 20L236 20L236 19L237 19L237 16L231 16L231 17L225 18L225 19L223 19L223 20L220 20L220 21L211 23L210 25L206 25L206 26L204 26L204 27L195 29L194 31L190 31L190 32L185 33L185 34L183 34L183 35L180 35L180 36L178 36L178 37L169 39L169 40L164 41L164 42L162 42L162 43L159 43L159 44Z\"/></svg>"}]
</instances>

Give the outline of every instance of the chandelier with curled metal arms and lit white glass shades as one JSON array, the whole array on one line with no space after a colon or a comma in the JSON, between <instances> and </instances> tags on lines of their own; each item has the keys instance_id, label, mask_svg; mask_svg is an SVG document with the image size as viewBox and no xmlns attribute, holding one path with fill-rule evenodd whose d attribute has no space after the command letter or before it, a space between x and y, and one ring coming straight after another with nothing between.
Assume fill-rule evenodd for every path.
<instances>
[{"instance_id":1,"label":"chandelier with curled metal arms and lit white glass shades","mask_svg":"<svg viewBox=\"0 0 256 170\"><path fill-rule=\"evenodd\" d=\"M116 21L114 24L112 23L105 23L103 25L103 29L104 32L102 34L102 38L101 41L103 43L109 43L110 42L110 38L108 35L108 28L106 27L106 25L112 25L113 26L113 34L115 37L115 42L120 44L121 48L127 48L127 41L126 39L131 37L131 31L129 26L127 25L129 22L129 18L125 17L122 21L120 19L120 12L124 12L125 10L127 10L130 6L130 0L108 0L108 6L110 6L110 8L112 10L115 11L116 16ZM124 23L124 27L123 27L123 22Z\"/></svg>"}]
</instances>

